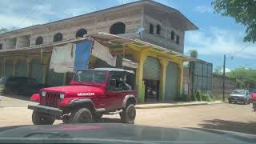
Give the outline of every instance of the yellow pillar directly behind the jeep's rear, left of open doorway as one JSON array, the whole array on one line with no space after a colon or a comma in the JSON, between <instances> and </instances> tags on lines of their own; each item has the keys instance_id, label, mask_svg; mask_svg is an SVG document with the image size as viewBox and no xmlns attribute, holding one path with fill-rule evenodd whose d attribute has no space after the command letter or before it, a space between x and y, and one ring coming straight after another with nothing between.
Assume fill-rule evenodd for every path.
<instances>
[{"instance_id":1,"label":"yellow pillar directly behind the jeep's rear, left of open doorway","mask_svg":"<svg viewBox=\"0 0 256 144\"><path fill-rule=\"evenodd\" d=\"M142 54L139 58L138 68L136 70L136 87L138 88L138 101L145 102L145 94L143 94L143 66L146 60L146 54Z\"/></svg>"}]
</instances>

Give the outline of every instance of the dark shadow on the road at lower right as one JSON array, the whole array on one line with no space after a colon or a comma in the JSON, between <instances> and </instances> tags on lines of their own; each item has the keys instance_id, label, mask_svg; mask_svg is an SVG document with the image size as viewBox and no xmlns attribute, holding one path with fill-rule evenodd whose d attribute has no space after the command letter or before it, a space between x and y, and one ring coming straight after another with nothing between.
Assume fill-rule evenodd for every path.
<instances>
[{"instance_id":1,"label":"dark shadow on the road at lower right","mask_svg":"<svg viewBox=\"0 0 256 144\"><path fill-rule=\"evenodd\" d=\"M234 122L221 119L206 120L199 124L202 128L215 130L229 130L246 134L256 134L256 122Z\"/></svg>"}]
</instances>

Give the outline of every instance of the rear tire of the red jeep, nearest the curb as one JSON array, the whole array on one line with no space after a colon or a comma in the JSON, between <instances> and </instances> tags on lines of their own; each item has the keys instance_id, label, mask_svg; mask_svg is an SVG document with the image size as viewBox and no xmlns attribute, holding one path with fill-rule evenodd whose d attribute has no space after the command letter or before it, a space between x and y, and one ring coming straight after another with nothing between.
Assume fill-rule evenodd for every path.
<instances>
[{"instance_id":1,"label":"rear tire of the red jeep, nearest the curb","mask_svg":"<svg viewBox=\"0 0 256 144\"><path fill-rule=\"evenodd\" d=\"M120 113L121 122L134 124L136 118L136 109L134 104L127 105L126 108Z\"/></svg>"}]
</instances>

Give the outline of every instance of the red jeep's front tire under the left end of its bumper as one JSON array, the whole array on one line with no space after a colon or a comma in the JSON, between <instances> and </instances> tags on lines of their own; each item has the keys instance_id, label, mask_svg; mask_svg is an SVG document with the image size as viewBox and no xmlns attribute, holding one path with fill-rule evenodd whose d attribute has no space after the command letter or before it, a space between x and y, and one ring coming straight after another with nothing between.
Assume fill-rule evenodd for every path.
<instances>
[{"instance_id":1,"label":"red jeep's front tire under the left end of its bumper","mask_svg":"<svg viewBox=\"0 0 256 144\"><path fill-rule=\"evenodd\" d=\"M32 122L34 125L52 125L54 121L54 118L46 118L39 114L38 111L33 111Z\"/></svg>"}]
</instances>

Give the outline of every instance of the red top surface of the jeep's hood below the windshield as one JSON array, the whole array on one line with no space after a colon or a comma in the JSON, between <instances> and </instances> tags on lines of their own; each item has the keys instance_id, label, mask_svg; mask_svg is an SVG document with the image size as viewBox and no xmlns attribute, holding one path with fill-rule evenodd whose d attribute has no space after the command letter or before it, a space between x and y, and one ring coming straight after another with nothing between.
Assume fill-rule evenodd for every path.
<instances>
[{"instance_id":1,"label":"red top surface of the jeep's hood below the windshield","mask_svg":"<svg viewBox=\"0 0 256 144\"><path fill-rule=\"evenodd\" d=\"M104 90L103 86L55 86L48 87L42 90L61 92L61 93L102 93Z\"/></svg>"}]
</instances>

